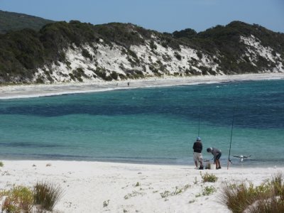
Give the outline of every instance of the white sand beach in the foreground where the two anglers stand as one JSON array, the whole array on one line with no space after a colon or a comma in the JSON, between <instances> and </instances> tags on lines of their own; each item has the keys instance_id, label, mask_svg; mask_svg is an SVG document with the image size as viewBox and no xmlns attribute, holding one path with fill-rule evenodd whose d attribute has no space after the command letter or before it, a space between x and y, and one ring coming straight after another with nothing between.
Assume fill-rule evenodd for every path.
<instances>
[{"instance_id":1,"label":"white sand beach in the foreground where the two anglers stand","mask_svg":"<svg viewBox=\"0 0 284 213\"><path fill-rule=\"evenodd\" d=\"M3 160L0 188L16 185L32 187L37 181L60 185L64 195L55 206L57 212L230 212L219 203L224 181L251 181L259 185L284 168L222 168L202 170L219 180L203 183L200 170L193 165L138 165L125 163ZM50 163L50 166L46 166ZM189 187L186 189L187 185ZM214 186L217 192L200 196L202 187ZM165 191L178 195L162 197ZM108 205L104 207L104 202Z\"/></svg>"}]
</instances>

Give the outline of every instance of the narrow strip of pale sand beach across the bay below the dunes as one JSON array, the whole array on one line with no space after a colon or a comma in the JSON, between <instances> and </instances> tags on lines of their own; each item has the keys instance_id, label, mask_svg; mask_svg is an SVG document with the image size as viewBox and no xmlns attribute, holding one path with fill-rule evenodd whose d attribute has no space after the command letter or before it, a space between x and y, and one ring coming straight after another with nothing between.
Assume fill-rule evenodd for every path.
<instances>
[{"instance_id":1,"label":"narrow strip of pale sand beach across the bay below the dunes","mask_svg":"<svg viewBox=\"0 0 284 213\"><path fill-rule=\"evenodd\" d=\"M127 80L114 82L86 82L60 84L9 85L0 87L0 99L41 97L59 94L102 92L114 89L133 89L143 87L170 87L189 84L212 84L217 82L241 80L277 80L284 79L284 73L263 73L246 75L220 75L195 77L163 77L143 80ZM129 86L128 86L129 82Z\"/></svg>"}]
</instances>

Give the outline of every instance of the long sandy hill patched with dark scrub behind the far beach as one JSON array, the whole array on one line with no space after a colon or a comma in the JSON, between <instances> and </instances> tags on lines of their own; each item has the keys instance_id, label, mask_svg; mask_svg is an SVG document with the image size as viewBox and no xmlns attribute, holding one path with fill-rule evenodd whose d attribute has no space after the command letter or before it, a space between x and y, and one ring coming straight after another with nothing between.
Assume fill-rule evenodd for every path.
<instances>
[{"instance_id":1,"label":"long sandy hill patched with dark scrub behind the far beach","mask_svg":"<svg viewBox=\"0 0 284 213\"><path fill-rule=\"evenodd\" d=\"M0 35L1 84L259 72L284 72L284 33L241 21L200 33L60 21Z\"/></svg>"}]
</instances>

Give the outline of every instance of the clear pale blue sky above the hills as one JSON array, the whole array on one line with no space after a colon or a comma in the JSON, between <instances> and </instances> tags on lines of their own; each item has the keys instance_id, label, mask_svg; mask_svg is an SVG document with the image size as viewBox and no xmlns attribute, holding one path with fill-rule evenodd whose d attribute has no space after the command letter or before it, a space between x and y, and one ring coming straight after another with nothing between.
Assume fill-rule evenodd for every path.
<instances>
[{"instance_id":1,"label":"clear pale blue sky above the hills","mask_svg":"<svg viewBox=\"0 0 284 213\"><path fill-rule=\"evenodd\" d=\"M54 21L134 23L168 33L200 32L231 21L284 33L284 0L0 0L0 10Z\"/></svg>"}]
</instances>

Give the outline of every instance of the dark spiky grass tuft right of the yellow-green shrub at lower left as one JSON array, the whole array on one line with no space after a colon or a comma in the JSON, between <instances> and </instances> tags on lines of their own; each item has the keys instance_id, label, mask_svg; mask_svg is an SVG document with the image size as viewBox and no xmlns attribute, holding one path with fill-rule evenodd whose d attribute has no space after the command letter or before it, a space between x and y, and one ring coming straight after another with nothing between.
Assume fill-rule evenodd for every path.
<instances>
[{"instance_id":1,"label":"dark spiky grass tuft right of the yellow-green shrub at lower left","mask_svg":"<svg viewBox=\"0 0 284 213\"><path fill-rule=\"evenodd\" d=\"M39 204L42 209L52 211L62 197L62 192L60 186L48 182L38 182L33 189L34 203Z\"/></svg>"}]
</instances>

